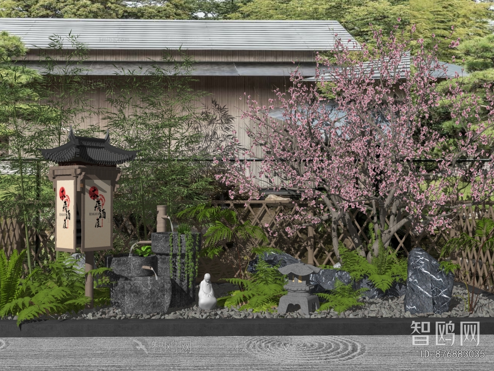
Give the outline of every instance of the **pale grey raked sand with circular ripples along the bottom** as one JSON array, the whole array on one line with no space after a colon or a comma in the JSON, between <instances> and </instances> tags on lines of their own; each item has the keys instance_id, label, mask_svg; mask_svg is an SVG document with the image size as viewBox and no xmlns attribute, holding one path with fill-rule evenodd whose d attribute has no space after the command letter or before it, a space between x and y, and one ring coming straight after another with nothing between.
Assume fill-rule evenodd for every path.
<instances>
[{"instance_id":1,"label":"pale grey raked sand with circular ripples along the bottom","mask_svg":"<svg viewBox=\"0 0 494 371\"><path fill-rule=\"evenodd\" d=\"M437 358L436 351L442 355L446 348L434 341L414 346L411 335L10 337L0 338L0 370L492 370L494 335L481 335L475 345L454 344L449 349L472 358L448 358L447 352ZM423 350L434 357L424 358ZM465 350L484 350L485 357Z\"/></svg>"}]
</instances>

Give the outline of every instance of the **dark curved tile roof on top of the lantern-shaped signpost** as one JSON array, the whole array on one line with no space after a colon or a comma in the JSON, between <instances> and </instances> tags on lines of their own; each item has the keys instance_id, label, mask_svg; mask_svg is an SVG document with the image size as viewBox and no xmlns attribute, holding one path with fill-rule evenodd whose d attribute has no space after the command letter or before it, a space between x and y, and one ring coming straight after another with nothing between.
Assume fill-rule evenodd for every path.
<instances>
[{"instance_id":1,"label":"dark curved tile roof on top of the lantern-shaped signpost","mask_svg":"<svg viewBox=\"0 0 494 371\"><path fill-rule=\"evenodd\" d=\"M110 145L108 131L103 139L76 137L71 126L68 143L57 148L41 149L41 154L47 160L58 164L83 163L115 166L133 160L137 151L128 151Z\"/></svg>"}]
</instances>

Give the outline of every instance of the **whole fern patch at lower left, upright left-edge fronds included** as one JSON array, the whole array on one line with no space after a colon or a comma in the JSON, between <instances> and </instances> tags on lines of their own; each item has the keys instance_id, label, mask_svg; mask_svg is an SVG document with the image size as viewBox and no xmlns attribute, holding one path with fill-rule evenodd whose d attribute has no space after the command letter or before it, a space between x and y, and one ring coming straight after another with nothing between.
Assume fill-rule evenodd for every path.
<instances>
[{"instance_id":1,"label":"whole fern patch at lower left, upright left-edge fronds included","mask_svg":"<svg viewBox=\"0 0 494 371\"><path fill-rule=\"evenodd\" d=\"M60 254L56 261L37 267L23 277L23 260L26 252L13 251L7 260L0 250L0 318L17 316L17 325L41 315L77 312L90 302L85 296L85 274L77 260L68 254ZM108 268L89 271L93 277L101 276ZM100 287L95 280L94 305L107 305L110 300L108 288Z\"/></svg>"}]
</instances>

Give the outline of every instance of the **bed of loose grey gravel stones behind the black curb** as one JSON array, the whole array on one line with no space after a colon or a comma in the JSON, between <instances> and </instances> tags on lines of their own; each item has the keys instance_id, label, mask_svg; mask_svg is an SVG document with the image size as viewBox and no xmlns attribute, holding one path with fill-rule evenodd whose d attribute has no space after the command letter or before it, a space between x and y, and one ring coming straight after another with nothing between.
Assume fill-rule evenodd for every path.
<instances>
[{"instance_id":1,"label":"bed of loose grey gravel stones behind the black curb","mask_svg":"<svg viewBox=\"0 0 494 371\"><path fill-rule=\"evenodd\" d=\"M474 313L465 311L465 300L467 297L467 291L464 287L455 285L453 288L453 298L449 311L442 314L434 313L417 313L411 314L405 312L404 299L402 297L389 297L382 299L360 299L364 305L347 310L343 313L336 313L333 309L324 310L317 313L310 313L310 315L304 315L300 310L296 312L290 312L287 314L278 314L276 309L273 312L259 312L253 313L252 309L239 310L239 308L216 308L212 310L200 309L197 305L191 305L186 308L180 308L174 311L170 310L167 313L152 313L152 314L130 314L123 313L116 307L99 308L92 312L84 314L83 311L79 313L65 313L62 315L49 315L41 316L40 319L220 319L220 318L376 318L376 317L393 317L393 318L416 318L416 317L494 317L494 300L486 296L481 295L478 299L477 306ZM173 308L172 308L173 309ZM10 316L7 319L17 319L17 316Z\"/></svg>"}]
</instances>

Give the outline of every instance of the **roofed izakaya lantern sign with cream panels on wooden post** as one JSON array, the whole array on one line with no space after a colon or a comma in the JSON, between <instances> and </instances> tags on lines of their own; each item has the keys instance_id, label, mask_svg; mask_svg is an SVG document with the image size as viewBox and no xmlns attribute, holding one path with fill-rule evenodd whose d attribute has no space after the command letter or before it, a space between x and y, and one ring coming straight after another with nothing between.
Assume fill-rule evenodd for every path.
<instances>
[{"instance_id":1,"label":"roofed izakaya lantern sign with cream panels on wooden post","mask_svg":"<svg viewBox=\"0 0 494 371\"><path fill-rule=\"evenodd\" d=\"M77 137L72 126L66 144L40 150L58 164L48 172L56 193L55 250L81 249L87 272L94 267L94 251L113 249L113 192L121 175L117 164L133 160L137 152L111 146L108 132L104 139ZM93 297L91 275L85 295Z\"/></svg>"}]
</instances>

